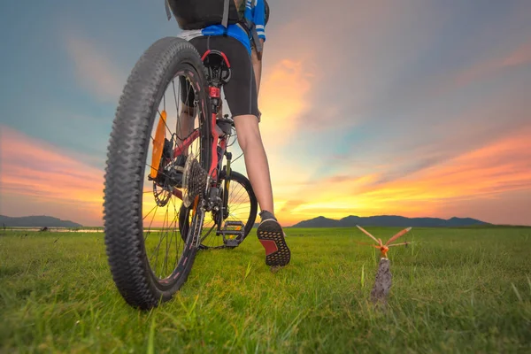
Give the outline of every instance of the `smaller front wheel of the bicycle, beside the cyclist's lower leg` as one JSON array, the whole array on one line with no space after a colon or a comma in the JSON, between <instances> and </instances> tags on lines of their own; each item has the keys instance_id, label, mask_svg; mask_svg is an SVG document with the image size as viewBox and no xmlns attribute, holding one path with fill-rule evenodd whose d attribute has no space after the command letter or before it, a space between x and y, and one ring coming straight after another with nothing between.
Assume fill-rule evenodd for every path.
<instances>
[{"instance_id":1,"label":"smaller front wheel of the bicycle, beside the cyclist's lower leg","mask_svg":"<svg viewBox=\"0 0 531 354\"><path fill-rule=\"evenodd\" d=\"M199 241L201 249L235 248L249 235L257 219L258 202L250 181L242 175L223 170L219 173L219 197L223 201L219 211L208 212ZM243 232L225 234L228 224L242 224ZM181 235L186 235L190 225L190 209L181 206L179 226ZM231 241L232 240L232 241Z\"/></svg>"}]
</instances>

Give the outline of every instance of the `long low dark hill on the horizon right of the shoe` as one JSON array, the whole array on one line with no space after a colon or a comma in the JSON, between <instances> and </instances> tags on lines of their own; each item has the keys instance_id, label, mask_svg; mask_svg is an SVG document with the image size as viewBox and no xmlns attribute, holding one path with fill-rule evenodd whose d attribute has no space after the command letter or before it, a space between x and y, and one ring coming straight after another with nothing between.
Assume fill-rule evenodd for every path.
<instances>
[{"instance_id":1,"label":"long low dark hill on the horizon right of the shoe","mask_svg":"<svg viewBox=\"0 0 531 354\"><path fill-rule=\"evenodd\" d=\"M292 227L469 227L490 225L487 222L471 218L405 218L396 215L358 217L350 215L339 220L319 216L301 221Z\"/></svg>"}]
</instances>

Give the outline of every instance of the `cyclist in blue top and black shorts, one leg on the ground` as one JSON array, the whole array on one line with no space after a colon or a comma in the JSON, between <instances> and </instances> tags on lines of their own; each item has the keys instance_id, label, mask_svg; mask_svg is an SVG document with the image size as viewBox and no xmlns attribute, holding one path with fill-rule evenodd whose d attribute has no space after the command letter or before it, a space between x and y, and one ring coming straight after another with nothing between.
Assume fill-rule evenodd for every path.
<instances>
[{"instance_id":1,"label":"cyclist in blue top and black shorts, one leg on the ground","mask_svg":"<svg viewBox=\"0 0 531 354\"><path fill-rule=\"evenodd\" d=\"M235 121L245 168L261 210L259 214L261 221L257 230L258 240L266 250L266 265L286 266L291 253L281 224L274 216L269 165L258 127L261 118L258 110L258 92L262 76L262 54L266 42L268 6L265 0L235 0L235 4L241 9L240 11L244 11L244 18L248 23L250 20L250 23L254 24L256 29L254 35L249 28L237 23L227 27L213 25L202 29L184 30L180 37L192 43L200 55L206 50L219 50L225 53L230 62L232 75L223 90ZM186 94L181 97L183 102L190 98ZM181 127L186 127L186 130L191 128L189 122L195 116L193 113L193 108L185 106L179 117Z\"/></svg>"}]
</instances>

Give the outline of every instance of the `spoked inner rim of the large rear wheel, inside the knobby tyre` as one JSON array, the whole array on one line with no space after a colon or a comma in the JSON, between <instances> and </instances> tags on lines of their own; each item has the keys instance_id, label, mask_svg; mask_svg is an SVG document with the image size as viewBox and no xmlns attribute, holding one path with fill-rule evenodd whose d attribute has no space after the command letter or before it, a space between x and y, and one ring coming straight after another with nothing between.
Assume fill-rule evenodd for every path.
<instances>
[{"instance_id":1,"label":"spoked inner rim of the large rear wheel, inside the knobby tyre","mask_svg":"<svg viewBox=\"0 0 531 354\"><path fill-rule=\"evenodd\" d=\"M181 210L181 186L179 185L179 158L174 150L182 148L183 142L190 136L199 135L188 149L182 149L184 155L193 154L201 165L204 142L201 132L204 129L205 104L196 104L192 119L178 119L183 112L189 112L187 106L194 106L190 93L197 96L198 75L191 65L181 64L176 75L165 87L158 103L158 109L150 134L149 149L146 153L142 180L142 226L146 258L151 273L160 286L171 286L179 279L183 269L189 264L191 248L190 235L181 235L179 212ZM185 85L185 81L191 84ZM201 100L199 100L201 101ZM184 103L184 104L183 104ZM185 105L186 104L186 105ZM165 141L161 144L161 127ZM197 134L199 133L199 134ZM163 151L157 150L163 146ZM158 161L159 165L153 165ZM158 173L154 173L157 171ZM153 177L157 176L154 180ZM150 177L150 178L149 178Z\"/></svg>"}]
</instances>

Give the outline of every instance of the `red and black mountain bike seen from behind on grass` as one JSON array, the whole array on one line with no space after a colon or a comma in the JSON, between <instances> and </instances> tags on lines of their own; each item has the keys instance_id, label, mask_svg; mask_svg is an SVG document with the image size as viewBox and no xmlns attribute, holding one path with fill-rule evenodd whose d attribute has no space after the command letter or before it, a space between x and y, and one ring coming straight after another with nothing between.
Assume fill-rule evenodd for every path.
<instances>
[{"instance_id":1,"label":"red and black mountain bike seen from behind on grass","mask_svg":"<svg viewBox=\"0 0 531 354\"><path fill-rule=\"evenodd\" d=\"M227 151L235 123L222 115L220 90L230 74L224 53L200 57L188 41L166 37L142 54L127 79L107 152L104 231L112 279L133 307L170 300L187 281L197 250L233 249L254 226L256 196L250 181L232 171ZM177 77L187 88L179 96ZM175 112L166 106L168 89ZM237 188L245 200L231 204Z\"/></svg>"}]
</instances>

